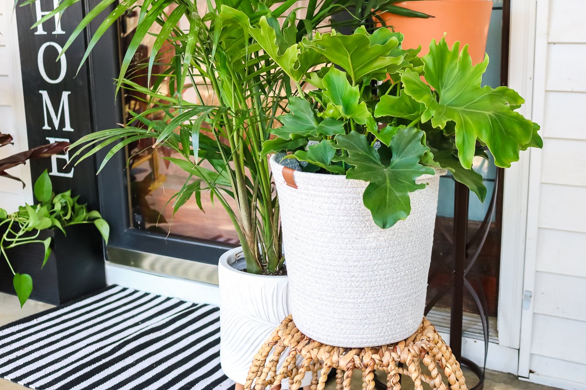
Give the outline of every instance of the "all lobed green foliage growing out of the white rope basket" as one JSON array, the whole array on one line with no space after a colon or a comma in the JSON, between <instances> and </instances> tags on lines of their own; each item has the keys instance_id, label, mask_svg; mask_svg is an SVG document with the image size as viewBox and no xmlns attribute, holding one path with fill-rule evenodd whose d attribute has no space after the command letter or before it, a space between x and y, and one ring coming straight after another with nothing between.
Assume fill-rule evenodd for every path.
<instances>
[{"instance_id":1,"label":"all lobed green foliage growing out of the white rope basket","mask_svg":"<svg viewBox=\"0 0 586 390\"><path fill-rule=\"evenodd\" d=\"M287 152L306 163L303 171L368 182L364 206L381 228L407 218L409 193L425 187L415 180L434 168L452 172L484 201L482 177L471 169L475 156L489 150L506 168L520 150L543 146L539 126L515 111L523 98L507 87L481 87L488 56L472 65L458 42L432 41L419 58L418 49L401 48L402 34L359 27L280 48L265 20L252 26L239 17L298 93L263 153ZM316 63L321 68L312 70Z\"/></svg>"}]
</instances>

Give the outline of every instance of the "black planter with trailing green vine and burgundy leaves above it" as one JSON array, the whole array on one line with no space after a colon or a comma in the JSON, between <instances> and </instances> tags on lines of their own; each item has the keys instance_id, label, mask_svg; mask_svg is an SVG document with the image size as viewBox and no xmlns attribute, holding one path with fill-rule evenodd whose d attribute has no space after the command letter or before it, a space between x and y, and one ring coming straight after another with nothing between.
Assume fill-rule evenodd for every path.
<instances>
[{"instance_id":1,"label":"black planter with trailing green vine and burgundy leaves above it","mask_svg":"<svg viewBox=\"0 0 586 390\"><path fill-rule=\"evenodd\" d=\"M0 146L11 139L0 134ZM2 158L0 176L22 181L5 170L29 158L52 156L66 146L69 143L53 143ZM0 290L16 293L22 307L29 297L58 304L104 287L100 236L79 226L92 223L107 240L108 224L100 213L77 203L70 191L54 194L47 171L36 180L34 195L36 205L23 205L15 212L0 208ZM76 228L69 229L73 225Z\"/></svg>"}]
</instances>

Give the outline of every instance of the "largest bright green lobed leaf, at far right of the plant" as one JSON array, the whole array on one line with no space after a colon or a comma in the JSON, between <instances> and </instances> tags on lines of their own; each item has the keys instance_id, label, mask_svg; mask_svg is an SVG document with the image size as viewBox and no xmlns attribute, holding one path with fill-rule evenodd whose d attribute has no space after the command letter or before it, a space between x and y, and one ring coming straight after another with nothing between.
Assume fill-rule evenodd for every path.
<instances>
[{"instance_id":1,"label":"largest bright green lobed leaf, at far right of the plant","mask_svg":"<svg viewBox=\"0 0 586 390\"><path fill-rule=\"evenodd\" d=\"M449 121L455 123L462 166L471 168L478 139L488 146L499 167L510 167L510 163L519 160L519 150L532 139L533 123L509 106L523 103L513 89L481 87L488 57L473 66L467 46L459 53L458 42L450 50L442 39L437 44L432 41L423 62L429 85L419 74L405 70L401 76L405 92L425 105L423 122L431 119L431 124L440 129Z\"/></svg>"}]
</instances>

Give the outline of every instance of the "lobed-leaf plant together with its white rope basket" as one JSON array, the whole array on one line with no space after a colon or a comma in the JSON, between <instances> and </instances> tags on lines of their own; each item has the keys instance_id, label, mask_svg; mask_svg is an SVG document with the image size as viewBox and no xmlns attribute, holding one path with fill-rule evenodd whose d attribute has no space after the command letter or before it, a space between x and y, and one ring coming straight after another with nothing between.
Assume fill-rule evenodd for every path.
<instances>
[{"instance_id":1,"label":"lobed-leaf plant together with its white rope basket","mask_svg":"<svg viewBox=\"0 0 586 390\"><path fill-rule=\"evenodd\" d=\"M249 33L270 33L258 25ZM539 126L515 111L523 103L515 91L481 87L488 57L472 65L467 46L442 39L419 58L402 40L360 27L281 51L258 41L297 88L263 151L287 153L271 166L291 310L323 343L376 346L412 334L425 304L438 175L451 171L483 201L473 157L488 149L509 167L520 150L542 146ZM316 56L321 68L310 70L305 58Z\"/></svg>"}]
</instances>

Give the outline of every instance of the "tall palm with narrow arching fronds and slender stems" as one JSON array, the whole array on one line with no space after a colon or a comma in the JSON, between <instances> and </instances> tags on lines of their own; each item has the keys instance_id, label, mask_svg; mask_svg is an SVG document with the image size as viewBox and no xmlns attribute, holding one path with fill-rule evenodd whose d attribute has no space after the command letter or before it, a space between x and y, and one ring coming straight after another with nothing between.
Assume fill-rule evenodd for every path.
<instances>
[{"instance_id":1,"label":"tall palm with narrow arching fronds and slender stems","mask_svg":"<svg viewBox=\"0 0 586 390\"><path fill-rule=\"evenodd\" d=\"M33 0L30 0L33 1ZM63 1L38 23L65 11L79 0ZM102 13L108 16L91 38L83 57L86 60L103 33L123 15L137 11L138 25L121 63L117 90L124 88L147 103L148 109L130 112L128 123L118 129L101 130L76 141L72 158L76 163L105 147L111 147L104 164L130 143L155 139L153 147L166 146L178 157L166 157L185 170L189 177L174 196L176 212L192 195L201 207L202 191L226 209L243 247L247 272L273 274L284 264L278 201L271 187L267 159L261 154L271 137L276 116L284 111L292 95L291 83L256 37L250 36L238 19L243 12L256 25L261 16L274 32L274 40L285 50L329 17L346 10L355 24L370 20L376 12L393 11L397 0L309 0L301 12L295 0L207 0L205 6L186 0L103 0L87 13L71 34L63 50ZM391 9L389 9L389 7ZM304 13L303 18L297 15ZM187 21L185 30L180 28ZM142 40L158 26L149 58L148 87L132 81L131 61ZM159 64L163 47L172 60ZM304 64L319 63L308 58ZM154 64L163 71L152 74ZM81 66L81 64L80 64ZM186 92L195 92L195 102ZM146 96L146 97L139 97ZM157 119L152 119L156 114ZM205 164L204 164L205 163ZM98 172L99 172L98 170ZM236 207L229 203L233 198Z\"/></svg>"}]
</instances>

